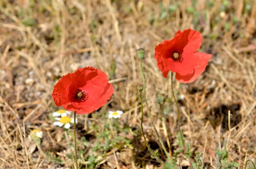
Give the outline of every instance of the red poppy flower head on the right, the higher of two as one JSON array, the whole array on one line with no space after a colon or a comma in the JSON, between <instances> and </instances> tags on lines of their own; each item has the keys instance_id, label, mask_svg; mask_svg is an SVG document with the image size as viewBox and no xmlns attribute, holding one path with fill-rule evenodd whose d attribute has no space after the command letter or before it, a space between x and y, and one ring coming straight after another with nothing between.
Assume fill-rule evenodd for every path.
<instances>
[{"instance_id":1,"label":"red poppy flower head on the right, the higher of two","mask_svg":"<svg viewBox=\"0 0 256 169\"><path fill-rule=\"evenodd\" d=\"M205 70L211 54L196 52L202 44L198 31L177 31L171 40L164 40L155 47L157 67L166 78L169 71L175 72L180 83L194 82Z\"/></svg>"}]
</instances>

